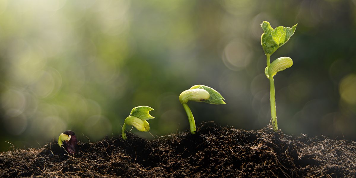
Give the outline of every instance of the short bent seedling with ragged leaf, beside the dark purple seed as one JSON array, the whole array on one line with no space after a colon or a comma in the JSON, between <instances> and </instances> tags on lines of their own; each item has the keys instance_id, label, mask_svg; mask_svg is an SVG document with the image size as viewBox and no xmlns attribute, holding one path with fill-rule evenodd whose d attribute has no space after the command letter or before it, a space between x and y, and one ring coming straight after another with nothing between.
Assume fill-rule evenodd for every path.
<instances>
[{"instance_id":1,"label":"short bent seedling with ragged leaf, beside the dark purple seed","mask_svg":"<svg viewBox=\"0 0 356 178\"><path fill-rule=\"evenodd\" d=\"M133 108L129 117L126 117L125 123L122 126L121 130L121 136L124 140L127 139L126 137L126 125L131 125L134 126L137 130L141 132L147 132L150 130L150 124L146 120L148 119L153 119L155 117L151 116L148 114L148 112L152 111L154 109L148 107L148 106L137 106L136 108Z\"/></svg>"}]
</instances>

